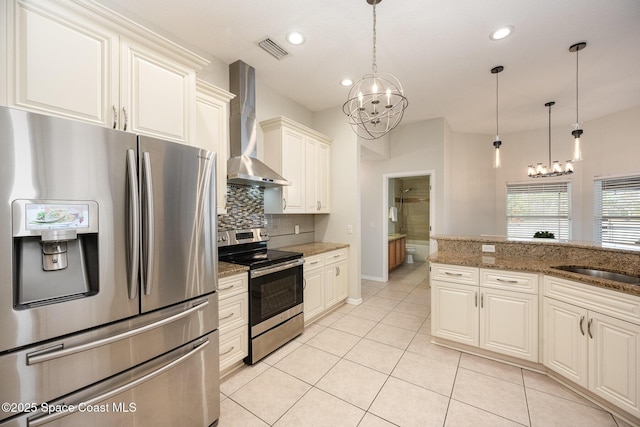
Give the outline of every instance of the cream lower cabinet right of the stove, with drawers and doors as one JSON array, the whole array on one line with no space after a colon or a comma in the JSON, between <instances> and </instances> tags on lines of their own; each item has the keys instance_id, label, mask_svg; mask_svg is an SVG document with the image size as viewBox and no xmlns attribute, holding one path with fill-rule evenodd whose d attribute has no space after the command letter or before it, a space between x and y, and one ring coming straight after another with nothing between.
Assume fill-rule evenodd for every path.
<instances>
[{"instance_id":1,"label":"cream lower cabinet right of the stove, with drawers and doors","mask_svg":"<svg viewBox=\"0 0 640 427\"><path fill-rule=\"evenodd\" d=\"M305 258L305 323L309 323L347 298L348 261L348 248Z\"/></svg>"}]
</instances>

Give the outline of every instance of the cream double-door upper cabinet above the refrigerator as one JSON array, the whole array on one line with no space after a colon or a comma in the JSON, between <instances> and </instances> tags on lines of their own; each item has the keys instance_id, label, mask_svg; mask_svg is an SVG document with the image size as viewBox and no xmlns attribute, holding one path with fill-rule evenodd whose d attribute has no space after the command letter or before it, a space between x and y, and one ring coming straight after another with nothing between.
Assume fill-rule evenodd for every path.
<instances>
[{"instance_id":1,"label":"cream double-door upper cabinet above the refrigerator","mask_svg":"<svg viewBox=\"0 0 640 427\"><path fill-rule=\"evenodd\" d=\"M188 143L206 60L97 3L7 3L9 107Z\"/></svg>"}]
</instances>

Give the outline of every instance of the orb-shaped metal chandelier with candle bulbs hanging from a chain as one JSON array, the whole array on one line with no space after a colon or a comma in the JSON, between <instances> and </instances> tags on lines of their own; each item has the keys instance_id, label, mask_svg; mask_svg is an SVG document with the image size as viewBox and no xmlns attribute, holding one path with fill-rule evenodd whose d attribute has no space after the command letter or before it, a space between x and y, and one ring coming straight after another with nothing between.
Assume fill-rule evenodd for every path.
<instances>
[{"instance_id":1,"label":"orb-shaped metal chandelier with candle bulbs hanging from a chain","mask_svg":"<svg viewBox=\"0 0 640 427\"><path fill-rule=\"evenodd\" d=\"M376 65L376 4L382 0L366 0L373 5L373 61L371 74L366 74L349 91L342 111L353 131L364 139L378 139L398 126L409 101L402 84L389 73L378 73Z\"/></svg>"}]
</instances>

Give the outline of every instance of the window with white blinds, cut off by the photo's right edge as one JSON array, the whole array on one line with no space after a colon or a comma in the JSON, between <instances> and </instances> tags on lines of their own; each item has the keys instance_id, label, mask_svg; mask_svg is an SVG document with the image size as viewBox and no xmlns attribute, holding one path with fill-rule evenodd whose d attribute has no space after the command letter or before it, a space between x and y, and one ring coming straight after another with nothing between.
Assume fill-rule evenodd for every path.
<instances>
[{"instance_id":1,"label":"window with white blinds, cut off by the photo's right edge","mask_svg":"<svg viewBox=\"0 0 640 427\"><path fill-rule=\"evenodd\" d=\"M640 176L598 178L593 197L595 241L640 249Z\"/></svg>"}]
</instances>

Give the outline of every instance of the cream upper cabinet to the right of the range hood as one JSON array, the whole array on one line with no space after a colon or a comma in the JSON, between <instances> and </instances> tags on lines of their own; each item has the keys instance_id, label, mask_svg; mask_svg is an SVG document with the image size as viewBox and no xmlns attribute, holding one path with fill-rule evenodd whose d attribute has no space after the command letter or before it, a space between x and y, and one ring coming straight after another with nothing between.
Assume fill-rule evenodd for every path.
<instances>
[{"instance_id":1,"label":"cream upper cabinet to the right of the range hood","mask_svg":"<svg viewBox=\"0 0 640 427\"><path fill-rule=\"evenodd\" d=\"M260 126L264 162L291 182L265 189L265 213L329 213L331 139L285 117Z\"/></svg>"}]
</instances>

